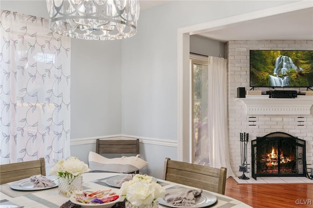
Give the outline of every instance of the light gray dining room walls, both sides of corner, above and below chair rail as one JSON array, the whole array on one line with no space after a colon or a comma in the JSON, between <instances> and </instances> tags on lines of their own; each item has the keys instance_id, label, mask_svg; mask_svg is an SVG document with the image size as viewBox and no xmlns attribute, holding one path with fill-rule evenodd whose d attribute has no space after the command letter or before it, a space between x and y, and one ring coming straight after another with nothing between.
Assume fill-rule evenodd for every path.
<instances>
[{"instance_id":1,"label":"light gray dining room walls, both sides of corner, above and below chair rail","mask_svg":"<svg viewBox=\"0 0 313 208\"><path fill-rule=\"evenodd\" d=\"M292 1L175 0L140 12L137 34L122 41L72 39L71 140L113 134L140 137L146 173L161 177L165 157L177 147L177 31L180 27ZM45 0L1 0L1 9L47 18ZM93 145L71 146L87 160Z\"/></svg>"}]
</instances>

